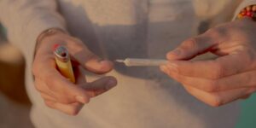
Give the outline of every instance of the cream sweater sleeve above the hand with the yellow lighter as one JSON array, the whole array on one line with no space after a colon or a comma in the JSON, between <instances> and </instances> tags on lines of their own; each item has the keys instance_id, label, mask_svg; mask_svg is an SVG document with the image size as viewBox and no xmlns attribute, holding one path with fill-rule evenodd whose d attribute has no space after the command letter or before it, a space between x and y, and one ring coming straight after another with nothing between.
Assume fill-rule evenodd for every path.
<instances>
[{"instance_id":1,"label":"cream sweater sleeve above the hand with the yellow lighter","mask_svg":"<svg viewBox=\"0 0 256 128\"><path fill-rule=\"evenodd\" d=\"M55 0L0 0L0 21L9 42L20 49L29 65L39 34L52 27L66 28Z\"/></svg>"}]
</instances>

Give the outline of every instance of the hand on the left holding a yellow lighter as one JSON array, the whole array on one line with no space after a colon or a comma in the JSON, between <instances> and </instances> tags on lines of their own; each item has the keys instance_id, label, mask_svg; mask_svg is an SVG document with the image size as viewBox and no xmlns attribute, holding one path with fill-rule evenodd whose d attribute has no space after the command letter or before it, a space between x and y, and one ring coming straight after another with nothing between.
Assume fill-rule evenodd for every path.
<instances>
[{"instance_id":1,"label":"hand on the left holding a yellow lighter","mask_svg":"<svg viewBox=\"0 0 256 128\"><path fill-rule=\"evenodd\" d=\"M53 46L65 45L71 55L76 83L73 84L58 72L55 65ZM76 115L90 98L110 90L117 84L113 77L104 77L86 82L84 69L92 73L108 73L113 68L110 61L101 59L90 52L77 38L63 32L44 37L36 49L32 72L35 86L49 108Z\"/></svg>"}]
</instances>

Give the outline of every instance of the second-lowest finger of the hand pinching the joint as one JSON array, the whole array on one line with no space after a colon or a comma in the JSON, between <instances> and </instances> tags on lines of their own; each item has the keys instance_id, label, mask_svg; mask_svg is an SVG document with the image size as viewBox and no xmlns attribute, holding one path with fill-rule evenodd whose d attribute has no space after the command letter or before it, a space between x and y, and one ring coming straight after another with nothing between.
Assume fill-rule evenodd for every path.
<instances>
[{"instance_id":1,"label":"second-lowest finger of the hand pinching the joint","mask_svg":"<svg viewBox=\"0 0 256 128\"><path fill-rule=\"evenodd\" d=\"M208 92L255 87L256 85L256 71L239 73L222 79L201 79L187 77L173 72L167 74L172 77L172 79L175 79L182 84L190 85L196 89Z\"/></svg>"}]
</instances>

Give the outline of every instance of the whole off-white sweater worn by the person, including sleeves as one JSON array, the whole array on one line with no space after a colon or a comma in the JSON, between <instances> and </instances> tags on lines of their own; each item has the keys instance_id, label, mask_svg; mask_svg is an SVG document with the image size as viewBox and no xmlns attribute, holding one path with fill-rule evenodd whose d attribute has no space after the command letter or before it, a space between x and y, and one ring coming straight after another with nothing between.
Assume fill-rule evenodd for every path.
<instances>
[{"instance_id":1,"label":"whole off-white sweater worn by the person, including sleeves","mask_svg":"<svg viewBox=\"0 0 256 128\"><path fill-rule=\"evenodd\" d=\"M216 17L235 3L234 0L1 0L0 20L8 29L9 41L26 57L26 89L33 104L32 122L38 128L231 128L236 125L240 110L237 102L209 107L156 67L115 65L108 75L118 79L118 86L94 98L76 117L44 105L34 89L31 67L36 38L50 27L68 30L97 55L110 60L164 58L167 51L197 34L201 20ZM256 0L244 0L237 10L253 3ZM90 75L88 79L97 77Z\"/></svg>"}]
</instances>

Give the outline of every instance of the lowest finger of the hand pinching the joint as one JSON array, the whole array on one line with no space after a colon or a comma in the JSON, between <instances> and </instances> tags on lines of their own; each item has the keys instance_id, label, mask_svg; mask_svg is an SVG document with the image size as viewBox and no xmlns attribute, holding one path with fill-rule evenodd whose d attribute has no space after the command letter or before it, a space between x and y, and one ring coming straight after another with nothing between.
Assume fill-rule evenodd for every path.
<instances>
[{"instance_id":1,"label":"lowest finger of the hand pinching the joint","mask_svg":"<svg viewBox=\"0 0 256 128\"><path fill-rule=\"evenodd\" d=\"M192 96L195 96L197 99L213 107L218 107L226 103L236 101L241 96L249 95L256 91L256 88L242 88L209 93L203 90L198 90L191 86L184 87Z\"/></svg>"}]
</instances>

